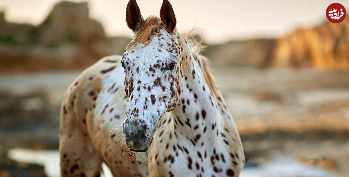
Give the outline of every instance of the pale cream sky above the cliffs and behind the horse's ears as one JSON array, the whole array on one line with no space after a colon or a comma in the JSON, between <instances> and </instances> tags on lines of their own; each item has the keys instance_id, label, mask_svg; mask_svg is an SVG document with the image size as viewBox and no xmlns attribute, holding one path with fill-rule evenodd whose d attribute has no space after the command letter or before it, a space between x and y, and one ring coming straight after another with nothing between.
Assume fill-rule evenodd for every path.
<instances>
[{"instance_id":1,"label":"pale cream sky above the cliffs and behind the horse's ears","mask_svg":"<svg viewBox=\"0 0 349 177\"><path fill-rule=\"evenodd\" d=\"M73 0L83 1L83 0ZM1 0L11 22L40 24L58 0ZM109 36L131 37L125 24L127 0L89 0L90 16L101 22ZM138 0L143 17L159 15L162 0ZM328 5L341 3L349 10L348 0L170 0L177 17L177 29L186 33L202 29L203 40L211 43L231 39L274 38L298 27L324 22ZM349 18L348 15L346 18ZM346 19L348 20L348 19Z\"/></svg>"}]
</instances>

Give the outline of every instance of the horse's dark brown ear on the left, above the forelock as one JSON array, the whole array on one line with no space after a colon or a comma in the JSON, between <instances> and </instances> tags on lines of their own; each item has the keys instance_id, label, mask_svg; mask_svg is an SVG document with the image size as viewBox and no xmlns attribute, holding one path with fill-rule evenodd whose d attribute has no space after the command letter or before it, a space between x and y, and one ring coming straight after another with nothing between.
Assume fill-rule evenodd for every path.
<instances>
[{"instance_id":1,"label":"horse's dark brown ear on the left, above the forelock","mask_svg":"<svg viewBox=\"0 0 349 177\"><path fill-rule=\"evenodd\" d=\"M126 23L129 29L133 32L138 31L141 28L142 22L144 21L141 11L137 5L136 0L128 1L126 7Z\"/></svg>"}]
</instances>

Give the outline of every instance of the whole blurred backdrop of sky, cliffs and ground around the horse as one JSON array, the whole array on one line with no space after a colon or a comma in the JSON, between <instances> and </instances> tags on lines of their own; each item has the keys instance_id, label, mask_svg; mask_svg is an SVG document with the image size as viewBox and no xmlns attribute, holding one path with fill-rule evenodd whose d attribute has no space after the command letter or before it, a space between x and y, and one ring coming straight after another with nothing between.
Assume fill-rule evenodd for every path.
<instances>
[{"instance_id":1,"label":"whole blurred backdrop of sky, cliffs and ground around the horse","mask_svg":"<svg viewBox=\"0 0 349 177\"><path fill-rule=\"evenodd\" d=\"M138 1L143 17L161 3ZM240 176L349 176L348 16L329 22L332 1L171 3L177 29L207 46L242 138ZM126 5L0 1L1 177L60 176L60 103L81 71L123 54Z\"/></svg>"}]
</instances>

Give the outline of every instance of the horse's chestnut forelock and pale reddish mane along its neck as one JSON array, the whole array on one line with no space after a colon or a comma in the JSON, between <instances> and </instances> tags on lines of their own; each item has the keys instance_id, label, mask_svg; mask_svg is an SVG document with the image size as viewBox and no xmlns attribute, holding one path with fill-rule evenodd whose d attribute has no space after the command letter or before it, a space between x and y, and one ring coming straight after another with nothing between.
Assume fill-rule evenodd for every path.
<instances>
[{"instance_id":1,"label":"horse's chestnut forelock and pale reddish mane along its neck","mask_svg":"<svg viewBox=\"0 0 349 177\"><path fill-rule=\"evenodd\" d=\"M132 48L134 45L138 43L143 43L143 47L149 45L156 33L158 34L158 37L160 36L162 26L163 25L160 18L156 16L147 17L142 23L141 28L136 33L132 42L127 46L126 50ZM184 40L184 44L186 44L186 46L192 53L194 57L192 59L197 60L209 89L212 91L213 95L217 96L216 83L208 66L209 61L205 56L200 55L200 51L205 49L206 46L201 45L202 39L200 42L195 40L195 38L192 35L192 32L194 30L196 29L192 29L191 31L189 31L187 34L183 36L182 39Z\"/></svg>"}]
</instances>

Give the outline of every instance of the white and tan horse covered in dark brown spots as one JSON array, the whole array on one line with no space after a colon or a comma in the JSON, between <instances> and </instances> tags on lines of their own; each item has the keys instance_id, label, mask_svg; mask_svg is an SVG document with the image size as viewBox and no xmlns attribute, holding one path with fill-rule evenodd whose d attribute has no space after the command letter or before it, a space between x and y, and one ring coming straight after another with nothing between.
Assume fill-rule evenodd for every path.
<instances>
[{"instance_id":1,"label":"white and tan horse covered in dark brown spots","mask_svg":"<svg viewBox=\"0 0 349 177\"><path fill-rule=\"evenodd\" d=\"M176 29L164 0L143 19L128 2L134 38L73 81L61 106L62 176L239 176L244 153L236 125L200 45Z\"/></svg>"}]
</instances>

